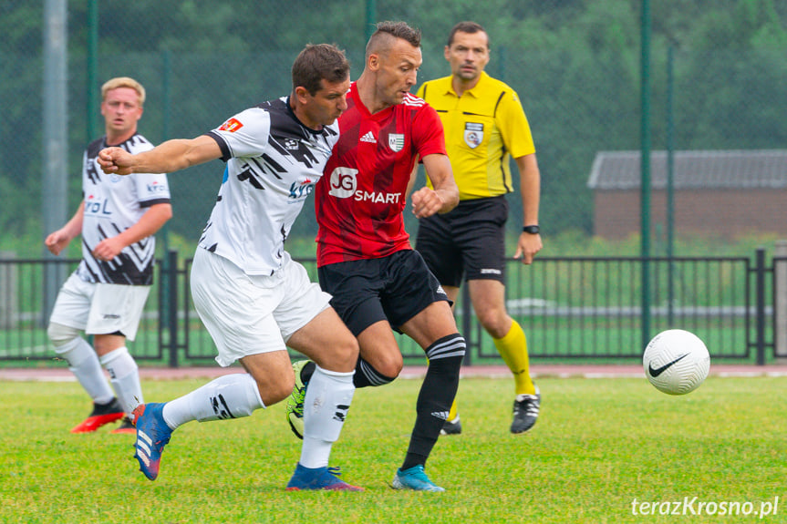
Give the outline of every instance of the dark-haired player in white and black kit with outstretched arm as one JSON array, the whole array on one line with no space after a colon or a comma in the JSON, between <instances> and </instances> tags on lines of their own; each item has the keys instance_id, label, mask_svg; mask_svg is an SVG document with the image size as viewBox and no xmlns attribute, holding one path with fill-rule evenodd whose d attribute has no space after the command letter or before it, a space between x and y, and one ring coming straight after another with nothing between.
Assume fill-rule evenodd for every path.
<instances>
[{"instance_id":1,"label":"dark-haired player in white and black kit with outstretched arm","mask_svg":"<svg viewBox=\"0 0 787 524\"><path fill-rule=\"evenodd\" d=\"M301 457L287 489L361 489L328 467L355 392L357 341L330 307L330 295L309 282L284 246L337 142L349 86L342 51L306 46L293 65L290 96L248 108L195 139L168 140L138 155L118 148L99 153L101 168L118 174L226 162L194 255L192 296L216 343L216 361L239 361L246 373L137 408L135 457L150 480L177 427L250 416L289 396L295 384L289 346L314 360L316 370L305 398Z\"/></svg>"}]
</instances>

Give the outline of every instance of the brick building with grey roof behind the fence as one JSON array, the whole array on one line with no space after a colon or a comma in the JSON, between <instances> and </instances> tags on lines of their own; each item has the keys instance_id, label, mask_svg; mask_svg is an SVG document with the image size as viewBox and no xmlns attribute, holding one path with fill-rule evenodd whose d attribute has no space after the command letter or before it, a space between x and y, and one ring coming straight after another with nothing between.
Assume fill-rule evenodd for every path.
<instances>
[{"instance_id":1,"label":"brick building with grey roof behind the fence","mask_svg":"<svg viewBox=\"0 0 787 524\"><path fill-rule=\"evenodd\" d=\"M667 152L652 151L650 223L667 226ZM639 151L600 151L588 187L594 234L624 239L641 231ZM675 151L676 234L729 238L751 232L787 237L787 149Z\"/></svg>"}]
</instances>

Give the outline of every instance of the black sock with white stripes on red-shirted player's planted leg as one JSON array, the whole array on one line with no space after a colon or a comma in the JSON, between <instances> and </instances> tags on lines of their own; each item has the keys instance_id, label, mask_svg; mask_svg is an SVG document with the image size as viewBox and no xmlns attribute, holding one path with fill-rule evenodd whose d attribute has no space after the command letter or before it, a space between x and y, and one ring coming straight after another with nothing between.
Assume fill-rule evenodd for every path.
<instances>
[{"instance_id":1,"label":"black sock with white stripes on red-shirted player's planted leg","mask_svg":"<svg viewBox=\"0 0 787 524\"><path fill-rule=\"evenodd\" d=\"M458 333L444 336L427 348L429 367L420 386L415 427L402 470L426 465L456 396L464 352L464 338Z\"/></svg>"}]
</instances>

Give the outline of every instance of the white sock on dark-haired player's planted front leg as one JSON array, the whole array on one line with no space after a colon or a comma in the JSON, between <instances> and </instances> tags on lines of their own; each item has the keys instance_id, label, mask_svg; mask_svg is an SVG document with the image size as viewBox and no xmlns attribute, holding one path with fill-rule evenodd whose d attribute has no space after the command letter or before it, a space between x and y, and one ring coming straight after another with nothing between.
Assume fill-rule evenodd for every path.
<instances>
[{"instance_id":1,"label":"white sock on dark-haired player's planted front leg","mask_svg":"<svg viewBox=\"0 0 787 524\"><path fill-rule=\"evenodd\" d=\"M356 388L353 374L327 371L319 365L309 380L304 399L304 444L301 466L326 467L338 440Z\"/></svg>"}]
</instances>

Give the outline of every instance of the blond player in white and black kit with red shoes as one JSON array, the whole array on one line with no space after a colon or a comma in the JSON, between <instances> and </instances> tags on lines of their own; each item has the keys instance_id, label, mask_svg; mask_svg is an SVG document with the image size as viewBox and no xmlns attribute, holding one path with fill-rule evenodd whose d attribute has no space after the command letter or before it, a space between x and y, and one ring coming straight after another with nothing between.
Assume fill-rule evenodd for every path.
<instances>
[{"instance_id":1,"label":"blond player in white and black kit with red shoes","mask_svg":"<svg viewBox=\"0 0 787 524\"><path fill-rule=\"evenodd\" d=\"M90 416L71 431L96 431L125 415L113 433L133 433L129 416L143 398L126 340L134 340L150 292L153 234L172 210L165 174L107 175L96 162L98 151L108 146L133 153L153 149L137 132L144 87L133 78L117 77L101 87L101 95L106 135L91 142L83 156L83 200L71 220L45 241L57 255L82 236L82 261L57 295L47 333L94 404ZM93 335L93 347L80 331Z\"/></svg>"}]
</instances>

